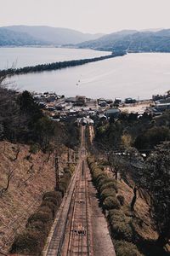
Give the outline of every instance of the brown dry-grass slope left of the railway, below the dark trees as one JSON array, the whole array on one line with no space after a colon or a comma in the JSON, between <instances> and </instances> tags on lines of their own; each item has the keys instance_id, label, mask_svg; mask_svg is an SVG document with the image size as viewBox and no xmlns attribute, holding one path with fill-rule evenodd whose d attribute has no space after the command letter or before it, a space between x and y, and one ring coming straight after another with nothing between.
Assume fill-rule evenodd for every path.
<instances>
[{"instance_id":1,"label":"brown dry-grass slope left of the railway, below the dark trees","mask_svg":"<svg viewBox=\"0 0 170 256\"><path fill-rule=\"evenodd\" d=\"M20 152L15 160L18 148ZM41 204L42 194L54 190L54 154L38 151L30 155L30 147L0 142L0 252L8 252L14 236L20 233L27 218Z\"/></svg>"}]
</instances>

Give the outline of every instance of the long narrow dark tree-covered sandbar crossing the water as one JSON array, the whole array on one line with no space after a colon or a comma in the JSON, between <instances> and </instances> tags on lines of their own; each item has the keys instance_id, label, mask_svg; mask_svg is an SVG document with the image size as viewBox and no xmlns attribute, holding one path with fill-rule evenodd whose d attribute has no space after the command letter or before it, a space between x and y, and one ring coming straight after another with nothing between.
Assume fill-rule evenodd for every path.
<instances>
[{"instance_id":1,"label":"long narrow dark tree-covered sandbar crossing the water","mask_svg":"<svg viewBox=\"0 0 170 256\"><path fill-rule=\"evenodd\" d=\"M123 56L126 55L126 51L116 51L111 53L111 55L105 55L90 59L84 59L84 60L75 60L75 61L59 61L59 62L53 62L48 64L40 64L36 66L31 67L21 67L21 68L8 68L0 71L0 76L11 76L11 75L18 75L18 74L26 74L26 73L37 73L37 72L43 72L43 71L52 71L57 70L65 67L76 67L80 65L84 65L90 62L95 61L103 61L106 59L111 59L117 56Z\"/></svg>"}]
</instances>

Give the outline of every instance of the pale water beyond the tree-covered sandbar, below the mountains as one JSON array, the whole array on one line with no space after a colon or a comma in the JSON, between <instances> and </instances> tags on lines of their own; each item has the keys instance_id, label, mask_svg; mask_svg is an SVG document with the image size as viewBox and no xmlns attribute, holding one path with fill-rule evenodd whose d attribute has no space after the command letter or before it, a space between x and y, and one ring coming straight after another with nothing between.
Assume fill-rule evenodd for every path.
<instances>
[{"instance_id":1,"label":"pale water beyond the tree-covered sandbar, below the mountains","mask_svg":"<svg viewBox=\"0 0 170 256\"><path fill-rule=\"evenodd\" d=\"M92 49L0 48L0 69L35 66L56 61L71 61L107 55Z\"/></svg>"}]
</instances>

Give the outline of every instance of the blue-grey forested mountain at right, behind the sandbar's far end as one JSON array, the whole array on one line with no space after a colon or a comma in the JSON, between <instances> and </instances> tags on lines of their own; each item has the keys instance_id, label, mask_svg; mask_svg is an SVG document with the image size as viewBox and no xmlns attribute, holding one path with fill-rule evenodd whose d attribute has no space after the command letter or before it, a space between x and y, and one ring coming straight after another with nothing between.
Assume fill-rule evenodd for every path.
<instances>
[{"instance_id":1,"label":"blue-grey forested mountain at right, behind the sandbar's far end","mask_svg":"<svg viewBox=\"0 0 170 256\"><path fill-rule=\"evenodd\" d=\"M80 48L170 52L170 29L158 32L122 31L77 45Z\"/></svg>"}]
</instances>

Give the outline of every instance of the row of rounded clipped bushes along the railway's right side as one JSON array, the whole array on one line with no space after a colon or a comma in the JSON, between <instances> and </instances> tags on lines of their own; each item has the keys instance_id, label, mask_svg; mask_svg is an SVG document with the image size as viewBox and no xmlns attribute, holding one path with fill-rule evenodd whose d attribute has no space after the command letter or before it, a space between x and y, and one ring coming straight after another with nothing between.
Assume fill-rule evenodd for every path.
<instances>
[{"instance_id":1,"label":"row of rounded clipped bushes along the railway's right side","mask_svg":"<svg viewBox=\"0 0 170 256\"><path fill-rule=\"evenodd\" d=\"M94 185L99 192L101 206L105 211L109 211L107 214L111 236L116 240L116 245L118 245L116 247L116 255L141 256L142 254L139 253L138 248L133 244L135 239L131 218L122 212L121 202L117 199L118 188L116 180L104 172L96 164L93 157L88 157L88 166L92 173ZM118 243L121 242L122 244L119 246Z\"/></svg>"}]
</instances>

